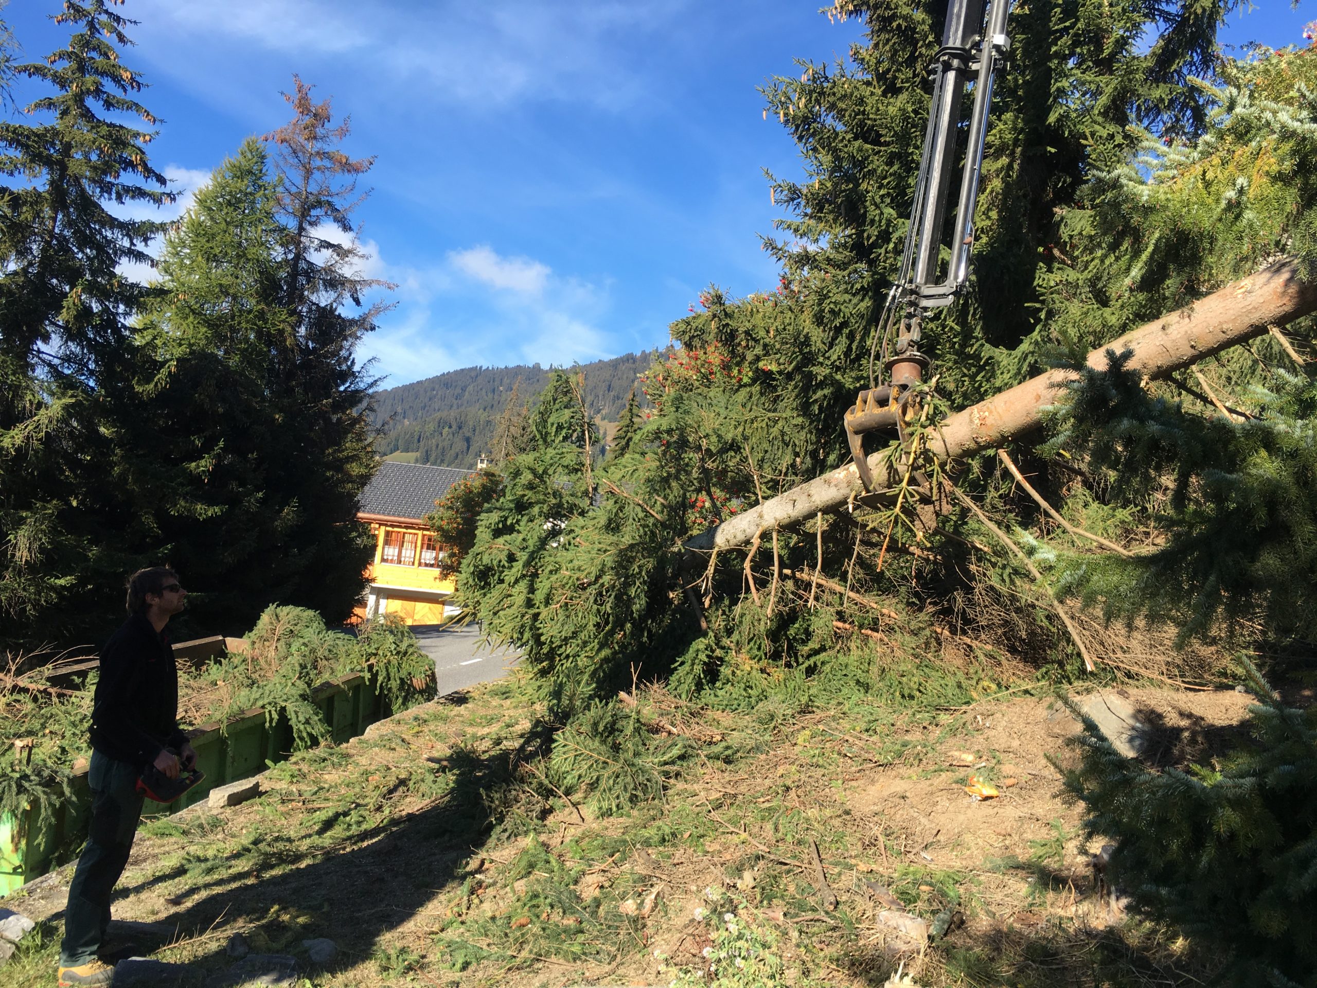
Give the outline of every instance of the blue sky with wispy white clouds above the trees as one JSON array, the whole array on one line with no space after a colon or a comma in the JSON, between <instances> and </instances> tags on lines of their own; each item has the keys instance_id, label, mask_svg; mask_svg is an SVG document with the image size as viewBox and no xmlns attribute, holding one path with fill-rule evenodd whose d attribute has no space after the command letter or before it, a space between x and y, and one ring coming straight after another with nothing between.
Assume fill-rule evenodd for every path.
<instances>
[{"instance_id":1,"label":"blue sky with wispy white clouds above the trees","mask_svg":"<svg viewBox=\"0 0 1317 988\"><path fill-rule=\"evenodd\" d=\"M822 0L128 0L124 63L163 120L153 162L188 191L286 121L292 72L377 155L358 211L398 283L367 339L386 385L471 364L570 364L668 341L709 283L776 285L760 249L794 174L769 76L859 37ZM4 11L25 54L59 0ZM1300 43L1314 4L1258 0L1227 43ZM20 99L25 94L20 92ZM183 203L186 204L186 196Z\"/></svg>"}]
</instances>

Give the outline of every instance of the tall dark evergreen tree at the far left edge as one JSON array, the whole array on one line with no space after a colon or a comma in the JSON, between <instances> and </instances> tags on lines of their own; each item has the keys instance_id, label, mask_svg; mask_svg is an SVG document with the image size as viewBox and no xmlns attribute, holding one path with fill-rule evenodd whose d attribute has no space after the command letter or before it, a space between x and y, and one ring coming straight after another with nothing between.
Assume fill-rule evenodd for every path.
<instances>
[{"instance_id":1,"label":"tall dark evergreen tree at the far left edge","mask_svg":"<svg viewBox=\"0 0 1317 988\"><path fill-rule=\"evenodd\" d=\"M116 216L109 204L173 199L148 161L155 117L120 63L132 21L113 0L70 0L55 14L68 42L14 66L53 95L0 123L0 628L40 628L57 607L96 610L105 582L136 561L94 522L112 499L115 451L99 429L97 383L119 373L141 286L119 273L149 263L162 224ZM113 574L113 576L111 576Z\"/></svg>"}]
</instances>

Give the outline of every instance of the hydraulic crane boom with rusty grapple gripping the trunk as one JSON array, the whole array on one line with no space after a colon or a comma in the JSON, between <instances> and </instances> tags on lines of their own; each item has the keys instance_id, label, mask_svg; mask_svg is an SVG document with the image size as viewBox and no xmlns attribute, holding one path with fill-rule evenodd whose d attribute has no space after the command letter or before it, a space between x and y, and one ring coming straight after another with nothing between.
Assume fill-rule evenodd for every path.
<instances>
[{"instance_id":1,"label":"hydraulic crane boom with rusty grapple gripping the trunk","mask_svg":"<svg viewBox=\"0 0 1317 988\"><path fill-rule=\"evenodd\" d=\"M900 432L913 420L917 414L913 389L923 381L930 364L928 357L919 350L923 316L931 308L950 306L969 277L975 203L979 200L993 80L1010 50L1006 17L1011 0L990 0L986 24L984 7L984 0L950 0L942 47L930 69L932 103L919 158L910 227L901 254L901 270L874 328L873 348L869 352L869 387L860 391L855 404L846 412L847 440L865 490L873 489L873 477L864 456L864 433L892 428ZM955 179L956 133L965 87L971 82L975 83L973 109L960 169L950 261L943 271L943 231ZM893 328L898 317L900 327L893 343ZM889 383L882 386L877 385L873 373L880 340L881 362L889 375Z\"/></svg>"}]
</instances>

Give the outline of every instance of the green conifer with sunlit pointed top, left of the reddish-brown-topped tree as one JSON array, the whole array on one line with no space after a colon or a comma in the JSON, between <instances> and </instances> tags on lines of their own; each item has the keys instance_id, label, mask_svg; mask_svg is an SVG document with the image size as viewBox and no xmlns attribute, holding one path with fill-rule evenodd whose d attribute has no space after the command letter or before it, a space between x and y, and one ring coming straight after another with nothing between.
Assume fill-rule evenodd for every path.
<instances>
[{"instance_id":1,"label":"green conifer with sunlit pointed top, left of the reddish-brown-topped tree","mask_svg":"<svg viewBox=\"0 0 1317 988\"><path fill-rule=\"evenodd\" d=\"M133 386L113 410L130 451L116 487L140 506L144 540L187 574L194 619L221 631L300 603L286 594L306 578L299 532L281 531L296 506L273 461L286 444L279 354L294 317L275 208L266 153L248 140L165 238Z\"/></svg>"}]
</instances>

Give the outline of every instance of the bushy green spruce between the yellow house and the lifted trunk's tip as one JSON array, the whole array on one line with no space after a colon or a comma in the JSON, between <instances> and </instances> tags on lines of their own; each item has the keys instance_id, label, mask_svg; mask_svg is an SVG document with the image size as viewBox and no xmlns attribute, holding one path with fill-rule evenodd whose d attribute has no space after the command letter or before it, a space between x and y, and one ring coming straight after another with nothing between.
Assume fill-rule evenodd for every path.
<instances>
[{"instance_id":1,"label":"bushy green spruce between the yellow house and the lifted trunk's tip","mask_svg":"<svg viewBox=\"0 0 1317 988\"><path fill-rule=\"evenodd\" d=\"M564 718L610 696L619 653L645 661L672 565L655 551L673 535L661 516L639 498L605 497L615 482L586 453L587 437L598 444L593 429L572 381L553 371L531 415L529 449L507 462L481 510L457 581L473 617L525 651ZM456 516L464 502L445 501L439 531L469 524Z\"/></svg>"}]
</instances>

